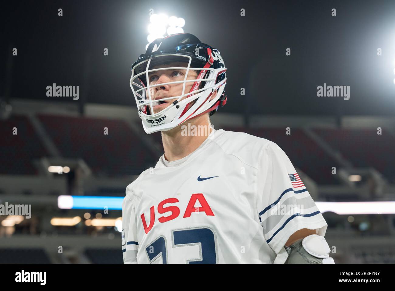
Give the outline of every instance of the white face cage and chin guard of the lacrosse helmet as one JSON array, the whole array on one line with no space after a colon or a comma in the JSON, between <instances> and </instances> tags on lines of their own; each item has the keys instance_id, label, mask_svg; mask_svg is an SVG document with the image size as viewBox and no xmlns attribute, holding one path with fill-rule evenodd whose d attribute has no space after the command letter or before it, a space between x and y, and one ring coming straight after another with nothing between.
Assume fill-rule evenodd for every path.
<instances>
[{"instance_id":1,"label":"white face cage and chin guard of the lacrosse helmet","mask_svg":"<svg viewBox=\"0 0 395 291\"><path fill-rule=\"evenodd\" d=\"M157 61L159 57L185 57L188 59L188 66L187 67L165 67L165 68L157 68L157 69L150 69L150 63L152 59L155 58ZM135 68L137 66L143 65L143 63L147 62L147 66L144 72L139 74L134 74ZM138 114L142 120L143 128L146 133L154 133L156 131L166 131L172 129L179 124L182 124L184 121L198 116L202 112L205 112L209 108L211 108L221 97L224 87L226 85L226 78L215 84L218 75L222 72L226 72L226 68L210 68L210 63L207 63L203 68L190 68L192 62L192 57L188 55L182 55L177 53L167 53L163 55L156 55L154 57L150 57L140 63L137 63L132 68L132 76L130 78L130 87L132 88L133 95L135 97L137 109L139 110ZM167 82L161 84L149 84L149 73L160 71L160 70L186 70L184 80L175 81L175 82ZM198 70L200 74L194 80L186 80L188 76L188 72L190 70ZM147 86L143 84L139 80L139 77L145 74L145 80ZM207 76L206 76L207 75ZM206 78L205 78L206 76ZM147 81L148 80L148 81ZM185 84L187 82L194 82L190 92L185 93ZM201 89L198 89L201 82L205 82L205 86ZM158 100L153 100L154 96L151 96L151 88L158 87L167 84L179 84L183 83L182 85L182 92L179 96L171 96L167 98L162 98ZM216 97L210 100L211 95L215 90L218 89ZM185 98L184 98L185 97ZM184 98L184 99L183 99ZM153 106L156 102L166 101L170 99L177 99L173 101L170 105L168 105L163 110L153 113ZM187 109L188 104L192 101L196 100L196 102ZM154 103L154 104L153 104ZM149 108L150 114L147 114L147 107Z\"/></svg>"}]
</instances>

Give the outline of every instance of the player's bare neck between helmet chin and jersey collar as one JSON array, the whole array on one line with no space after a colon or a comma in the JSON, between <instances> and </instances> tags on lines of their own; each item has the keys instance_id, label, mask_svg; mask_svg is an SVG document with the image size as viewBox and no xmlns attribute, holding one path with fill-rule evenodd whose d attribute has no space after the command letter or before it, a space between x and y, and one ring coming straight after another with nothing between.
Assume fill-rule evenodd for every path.
<instances>
[{"instance_id":1,"label":"player's bare neck between helmet chin and jersey collar","mask_svg":"<svg viewBox=\"0 0 395 291\"><path fill-rule=\"evenodd\" d=\"M195 131L193 131L194 128ZM162 143L166 160L171 162L188 156L207 139L211 131L208 114L192 118L171 130L162 131ZM202 134L206 132L207 134ZM191 133L198 133L198 135L192 136Z\"/></svg>"}]
</instances>

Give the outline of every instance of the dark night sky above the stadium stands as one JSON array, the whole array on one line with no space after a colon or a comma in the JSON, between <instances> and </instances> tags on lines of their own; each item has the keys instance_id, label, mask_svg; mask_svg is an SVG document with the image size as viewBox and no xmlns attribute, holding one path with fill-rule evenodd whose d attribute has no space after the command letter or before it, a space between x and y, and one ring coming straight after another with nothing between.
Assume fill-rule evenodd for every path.
<instances>
[{"instance_id":1,"label":"dark night sky above the stadium stands","mask_svg":"<svg viewBox=\"0 0 395 291\"><path fill-rule=\"evenodd\" d=\"M219 49L228 68L222 112L395 114L395 1L18 1L2 4L0 95L46 97L79 85L81 100L135 106L130 67L145 52L149 9L186 20L185 32ZM58 8L63 16L57 16ZM246 16L240 16L245 8ZM331 9L337 16L331 16ZM103 56L103 48L109 56ZM291 56L285 49L291 48ZM377 56L377 48L383 55ZM87 64L87 65L86 65ZM88 76L88 82L85 78ZM316 87L350 86L350 100ZM240 96L245 87L246 96ZM77 102L77 101L75 101ZM243 111L242 111L243 112Z\"/></svg>"}]
</instances>

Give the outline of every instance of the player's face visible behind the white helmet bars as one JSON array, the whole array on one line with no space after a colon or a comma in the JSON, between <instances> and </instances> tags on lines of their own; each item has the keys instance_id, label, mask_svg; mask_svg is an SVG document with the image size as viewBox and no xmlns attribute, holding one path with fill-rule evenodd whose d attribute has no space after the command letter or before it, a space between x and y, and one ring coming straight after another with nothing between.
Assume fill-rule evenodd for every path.
<instances>
[{"instance_id":1,"label":"player's face visible behind the white helmet bars","mask_svg":"<svg viewBox=\"0 0 395 291\"><path fill-rule=\"evenodd\" d=\"M167 63L163 65L158 65L152 67L152 69L155 68L165 68L165 67L186 67L186 63L183 62L174 62L174 63ZM151 68L150 68L151 69ZM175 82L175 81L183 81L185 78L186 74L186 69L169 69L169 70L160 70L160 71L154 71L149 73L149 84L150 86L155 85L155 84L162 84L162 83L167 83L167 82ZM190 70L188 72L188 76L186 80L195 80L197 77L197 73L194 70ZM185 91L184 94L189 93L190 89L192 88L194 82L185 82ZM152 101L157 100L157 99L162 99L162 98L168 98L168 97L177 97L182 94L182 86L183 83L177 83L177 84L166 84L166 85L161 85L161 86L156 86L150 88L150 93L151 93L151 99ZM148 89L147 89L147 96L148 96ZM189 97L184 96L182 97L181 100ZM147 97L148 98L148 97ZM153 102L153 110L154 113L157 113L164 108L170 106L172 102L177 100L177 98L174 99L168 99L160 102Z\"/></svg>"}]
</instances>

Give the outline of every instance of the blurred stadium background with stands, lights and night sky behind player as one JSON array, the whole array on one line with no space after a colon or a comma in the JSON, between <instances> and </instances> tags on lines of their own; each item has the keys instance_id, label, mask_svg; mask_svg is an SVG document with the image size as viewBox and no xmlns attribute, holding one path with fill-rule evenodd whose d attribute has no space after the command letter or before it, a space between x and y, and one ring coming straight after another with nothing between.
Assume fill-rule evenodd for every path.
<instances>
[{"instance_id":1,"label":"blurred stadium background with stands, lights and night sky behind player","mask_svg":"<svg viewBox=\"0 0 395 291\"><path fill-rule=\"evenodd\" d=\"M0 204L31 204L32 217L0 215L0 263L122 263L117 205L163 154L160 133L146 135L137 116L130 65L149 34L181 30L228 68L214 128L286 152L323 212L335 262L395 263L395 3L358 3L7 4ZM151 17L161 13L185 23ZM53 83L80 86L79 99L46 97ZM350 86L350 99L317 97L324 83Z\"/></svg>"}]
</instances>

